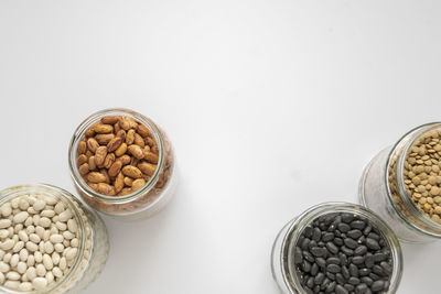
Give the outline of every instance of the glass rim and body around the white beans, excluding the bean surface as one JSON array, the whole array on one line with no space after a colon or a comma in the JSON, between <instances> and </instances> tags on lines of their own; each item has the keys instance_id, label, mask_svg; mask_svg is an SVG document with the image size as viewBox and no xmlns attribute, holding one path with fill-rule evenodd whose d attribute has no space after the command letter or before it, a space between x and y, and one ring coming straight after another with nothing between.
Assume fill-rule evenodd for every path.
<instances>
[{"instance_id":1,"label":"glass rim and body around the white beans, excluding the bean surface","mask_svg":"<svg viewBox=\"0 0 441 294\"><path fill-rule=\"evenodd\" d=\"M6 202L25 195L51 197L56 199L57 203L63 203L65 207L71 208L73 211L73 218L77 222L79 233L76 258L66 275L60 281L50 284L43 292L46 294L78 293L97 277L107 261L109 242L107 229L101 218L68 192L46 184L22 185L3 189L0 192L0 207ZM4 286L0 286L0 292L10 294L23 293Z\"/></svg>"}]
</instances>

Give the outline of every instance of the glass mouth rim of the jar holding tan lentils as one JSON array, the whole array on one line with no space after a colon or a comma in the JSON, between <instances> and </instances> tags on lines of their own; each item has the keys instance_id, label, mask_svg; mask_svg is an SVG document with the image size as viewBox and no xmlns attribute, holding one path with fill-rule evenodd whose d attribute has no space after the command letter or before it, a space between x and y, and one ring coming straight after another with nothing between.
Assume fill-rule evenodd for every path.
<instances>
[{"instance_id":1,"label":"glass mouth rim of the jar holding tan lentils","mask_svg":"<svg viewBox=\"0 0 441 294\"><path fill-rule=\"evenodd\" d=\"M417 205L412 202L411 196L407 192L406 184L405 184L405 178L404 178L404 171L405 171L405 162L406 157L409 154L410 149L412 148L413 143L426 132L433 131L437 129L441 129L441 122L429 122L421 124L419 127L416 127L405 133L392 146L390 150L387 161L386 161L386 173L385 173L385 183L386 183L386 190L387 190L387 198L391 206L395 208L395 210L398 213L398 216L405 221L405 224L410 225L412 228L422 231L423 233L437 238L441 238L441 224L437 222L435 220L431 219L428 217L421 209L417 207ZM404 150L401 153L398 153L397 150L404 145ZM397 154L398 153L398 154ZM405 206L407 209L410 210L410 213L416 216L416 218L420 221L423 221L426 225L434 227L437 230L440 231L440 233L435 232L430 232L426 230L424 228L421 228L420 226L417 226L413 224L413 221L409 221L408 217L404 215L401 209L397 206L397 204L394 202L394 195L391 193L391 187L390 187L390 182L389 182L389 173L390 173L390 166L394 161L394 156L398 155L398 161L397 161L397 183L398 183L398 189L399 194L402 195L404 197L400 197L400 199L404 202Z\"/></svg>"}]
</instances>

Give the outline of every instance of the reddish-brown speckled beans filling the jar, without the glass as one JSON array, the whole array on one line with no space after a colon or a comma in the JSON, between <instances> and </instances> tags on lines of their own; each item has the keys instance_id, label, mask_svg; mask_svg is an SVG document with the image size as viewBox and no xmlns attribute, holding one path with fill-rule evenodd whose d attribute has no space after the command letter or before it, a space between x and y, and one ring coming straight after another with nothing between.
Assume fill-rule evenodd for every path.
<instances>
[{"instance_id":1,"label":"reddish-brown speckled beans filling the jar, without the glass","mask_svg":"<svg viewBox=\"0 0 441 294\"><path fill-rule=\"evenodd\" d=\"M157 170L158 145L150 130L129 117L104 117L78 143L77 166L86 183L107 196L144 186Z\"/></svg>"}]
</instances>

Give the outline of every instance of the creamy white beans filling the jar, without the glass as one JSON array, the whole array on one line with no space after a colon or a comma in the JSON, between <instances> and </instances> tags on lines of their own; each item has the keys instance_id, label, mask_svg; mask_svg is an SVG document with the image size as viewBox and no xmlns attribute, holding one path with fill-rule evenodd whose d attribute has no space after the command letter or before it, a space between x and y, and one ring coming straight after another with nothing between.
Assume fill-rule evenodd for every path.
<instances>
[{"instance_id":1,"label":"creamy white beans filling the jar, without the glass","mask_svg":"<svg viewBox=\"0 0 441 294\"><path fill-rule=\"evenodd\" d=\"M30 292L62 280L78 254L71 208L56 197L23 195L0 207L0 284Z\"/></svg>"}]
</instances>

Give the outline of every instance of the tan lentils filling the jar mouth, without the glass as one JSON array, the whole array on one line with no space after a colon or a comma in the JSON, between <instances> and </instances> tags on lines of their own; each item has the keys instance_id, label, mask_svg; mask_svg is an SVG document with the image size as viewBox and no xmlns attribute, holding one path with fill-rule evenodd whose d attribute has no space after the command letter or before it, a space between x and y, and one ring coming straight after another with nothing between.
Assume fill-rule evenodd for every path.
<instances>
[{"instance_id":1,"label":"tan lentils filling the jar mouth, without the glass","mask_svg":"<svg viewBox=\"0 0 441 294\"><path fill-rule=\"evenodd\" d=\"M405 162L405 185L416 206L441 222L441 131L421 135Z\"/></svg>"}]
</instances>

